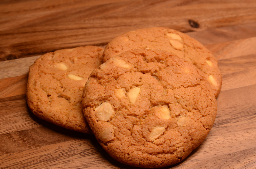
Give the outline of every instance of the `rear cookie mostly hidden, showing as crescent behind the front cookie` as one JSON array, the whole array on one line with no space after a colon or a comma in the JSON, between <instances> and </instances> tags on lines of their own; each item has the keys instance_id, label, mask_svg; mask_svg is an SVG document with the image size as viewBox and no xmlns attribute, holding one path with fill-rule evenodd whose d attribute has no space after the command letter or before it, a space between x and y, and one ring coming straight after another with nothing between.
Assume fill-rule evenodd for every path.
<instances>
[{"instance_id":1,"label":"rear cookie mostly hidden, showing as crescent behind the front cookie","mask_svg":"<svg viewBox=\"0 0 256 169\"><path fill-rule=\"evenodd\" d=\"M173 53L196 65L211 84L215 97L220 93L222 78L215 56L195 39L173 29L152 27L130 31L111 40L104 52L104 62L127 50L159 49Z\"/></svg>"}]
</instances>

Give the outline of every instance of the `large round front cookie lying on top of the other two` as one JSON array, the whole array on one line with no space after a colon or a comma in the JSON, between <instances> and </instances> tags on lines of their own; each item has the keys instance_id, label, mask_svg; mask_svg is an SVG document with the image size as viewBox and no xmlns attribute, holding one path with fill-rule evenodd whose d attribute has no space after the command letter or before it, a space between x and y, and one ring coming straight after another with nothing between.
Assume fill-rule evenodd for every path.
<instances>
[{"instance_id":1,"label":"large round front cookie lying on top of the other two","mask_svg":"<svg viewBox=\"0 0 256 169\"><path fill-rule=\"evenodd\" d=\"M92 71L84 116L121 163L158 168L182 161L204 141L217 102L204 74L171 53L137 49Z\"/></svg>"}]
</instances>

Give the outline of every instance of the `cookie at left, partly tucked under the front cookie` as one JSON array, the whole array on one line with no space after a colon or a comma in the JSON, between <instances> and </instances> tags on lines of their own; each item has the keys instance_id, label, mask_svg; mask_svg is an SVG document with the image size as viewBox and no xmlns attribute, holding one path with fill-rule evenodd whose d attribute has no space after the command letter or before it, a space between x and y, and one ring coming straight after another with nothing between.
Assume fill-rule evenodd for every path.
<instances>
[{"instance_id":1,"label":"cookie at left, partly tucked under the front cookie","mask_svg":"<svg viewBox=\"0 0 256 169\"><path fill-rule=\"evenodd\" d=\"M82 94L103 48L62 49L39 57L29 68L27 103L39 118L66 129L91 133L83 115Z\"/></svg>"}]
</instances>

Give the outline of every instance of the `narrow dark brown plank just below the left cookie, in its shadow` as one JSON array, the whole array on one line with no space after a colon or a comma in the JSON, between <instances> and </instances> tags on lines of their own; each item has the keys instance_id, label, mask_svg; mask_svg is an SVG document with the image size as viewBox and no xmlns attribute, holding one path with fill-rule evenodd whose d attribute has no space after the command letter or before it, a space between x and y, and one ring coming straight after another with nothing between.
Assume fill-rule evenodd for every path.
<instances>
[{"instance_id":1,"label":"narrow dark brown plank just below the left cookie, in its shadow","mask_svg":"<svg viewBox=\"0 0 256 169\"><path fill-rule=\"evenodd\" d=\"M40 127L1 134L0 155L26 151L74 139L94 139L93 135L63 129L38 118L35 119L35 121L41 123Z\"/></svg>"}]
</instances>

